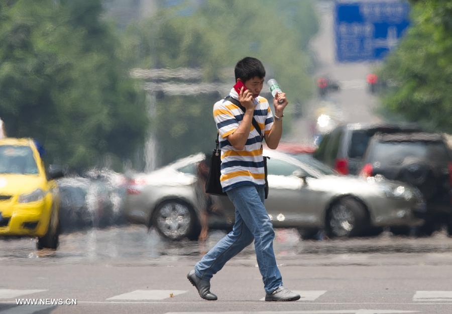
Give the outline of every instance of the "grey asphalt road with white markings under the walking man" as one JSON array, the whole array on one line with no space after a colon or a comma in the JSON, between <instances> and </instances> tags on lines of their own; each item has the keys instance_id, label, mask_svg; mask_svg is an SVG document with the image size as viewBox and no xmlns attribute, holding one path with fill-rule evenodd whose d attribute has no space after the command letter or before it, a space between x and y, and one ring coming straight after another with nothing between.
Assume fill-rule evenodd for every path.
<instances>
[{"instance_id":1,"label":"grey asphalt road with white markings under the walking man","mask_svg":"<svg viewBox=\"0 0 452 314\"><path fill-rule=\"evenodd\" d=\"M261 300L262 279L251 245L211 281L217 301L202 300L186 279L206 243L173 243L141 226L61 236L60 248L37 251L33 239L0 241L0 314L32 313L438 313L452 312L452 239L394 237L302 241L277 229L284 284L296 302ZM17 305L16 299L76 305Z\"/></svg>"}]
</instances>

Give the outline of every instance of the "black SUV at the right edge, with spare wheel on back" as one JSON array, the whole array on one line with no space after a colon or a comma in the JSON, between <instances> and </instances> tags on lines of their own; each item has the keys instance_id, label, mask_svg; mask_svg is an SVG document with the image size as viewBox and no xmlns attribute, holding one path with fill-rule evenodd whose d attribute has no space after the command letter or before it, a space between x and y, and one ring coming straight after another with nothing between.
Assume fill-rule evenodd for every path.
<instances>
[{"instance_id":1,"label":"black SUV at the right edge, with spare wheel on back","mask_svg":"<svg viewBox=\"0 0 452 314\"><path fill-rule=\"evenodd\" d=\"M421 234L446 224L452 233L452 158L440 134L377 134L363 158L363 176L382 175L419 188L426 201Z\"/></svg>"}]
</instances>

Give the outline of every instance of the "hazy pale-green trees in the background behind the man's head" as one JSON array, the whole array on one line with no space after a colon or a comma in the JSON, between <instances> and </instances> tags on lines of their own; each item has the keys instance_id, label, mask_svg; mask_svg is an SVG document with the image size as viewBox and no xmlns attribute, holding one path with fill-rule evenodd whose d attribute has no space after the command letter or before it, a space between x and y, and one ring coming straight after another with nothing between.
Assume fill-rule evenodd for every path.
<instances>
[{"instance_id":1,"label":"hazy pale-green trees in the background behind the man's head","mask_svg":"<svg viewBox=\"0 0 452 314\"><path fill-rule=\"evenodd\" d=\"M231 68L234 76L236 62L254 56L290 95L290 106L310 96L312 64L307 44L318 29L310 1L208 0L193 12L187 6L162 9L127 30L123 56L131 67L200 68L202 81L232 87L233 79L225 82L220 70ZM212 149L212 105L224 96L165 95L157 100L153 132L160 144L161 163Z\"/></svg>"}]
</instances>

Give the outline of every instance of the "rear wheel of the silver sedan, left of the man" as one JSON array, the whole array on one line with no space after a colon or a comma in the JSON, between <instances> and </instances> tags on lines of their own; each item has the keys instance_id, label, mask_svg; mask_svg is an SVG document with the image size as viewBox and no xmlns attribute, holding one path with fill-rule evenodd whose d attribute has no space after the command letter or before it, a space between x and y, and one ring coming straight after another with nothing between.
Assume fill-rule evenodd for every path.
<instances>
[{"instance_id":1,"label":"rear wheel of the silver sedan, left of the man","mask_svg":"<svg viewBox=\"0 0 452 314\"><path fill-rule=\"evenodd\" d=\"M157 206L152 215L152 225L162 236L171 240L196 240L200 232L193 208L177 199L164 201Z\"/></svg>"}]
</instances>

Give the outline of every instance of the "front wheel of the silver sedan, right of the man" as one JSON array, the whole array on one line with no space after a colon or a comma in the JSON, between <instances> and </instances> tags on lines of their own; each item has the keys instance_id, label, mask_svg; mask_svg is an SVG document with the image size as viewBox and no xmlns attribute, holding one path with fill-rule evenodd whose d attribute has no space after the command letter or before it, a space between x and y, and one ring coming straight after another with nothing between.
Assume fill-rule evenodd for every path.
<instances>
[{"instance_id":1,"label":"front wheel of the silver sedan, right of the man","mask_svg":"<svg viewBox=\"0 0 452 314\"><path fill-rule=\"evenodd\" d=\"M360 236L367 227L366 209L351 197L333 203L326 215L326 232L330 238Z\"/></svg>"}]
</instances>

